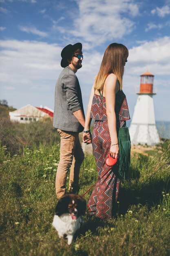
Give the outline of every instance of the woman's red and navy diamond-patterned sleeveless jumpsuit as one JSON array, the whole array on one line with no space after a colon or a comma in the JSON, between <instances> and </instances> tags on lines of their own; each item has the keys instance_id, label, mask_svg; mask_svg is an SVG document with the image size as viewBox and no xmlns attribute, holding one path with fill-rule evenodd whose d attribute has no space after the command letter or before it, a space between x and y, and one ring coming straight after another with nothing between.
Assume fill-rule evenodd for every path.
<instances>
[{"instance_id":1,"label":"woman's red and navy diamond-patterned sleeveless jumpsuit","mask_svg":"<svg viewBox=\"0 0 170 256\"><path fill-rule=\"evenodd\" d=\"M115 113L117 128L126 126L126 120L130 119L130 115L126 96L122 90L116 94ZM94 94L90 116L95 119L92 146L98 181L88 201L87 212L105 220L113 217L113 203L117 202L121 183L116 175L118 166L107 166L105 163L111 144L105 97L101 99L100 95Z\"/></svg>"}]
</instances>

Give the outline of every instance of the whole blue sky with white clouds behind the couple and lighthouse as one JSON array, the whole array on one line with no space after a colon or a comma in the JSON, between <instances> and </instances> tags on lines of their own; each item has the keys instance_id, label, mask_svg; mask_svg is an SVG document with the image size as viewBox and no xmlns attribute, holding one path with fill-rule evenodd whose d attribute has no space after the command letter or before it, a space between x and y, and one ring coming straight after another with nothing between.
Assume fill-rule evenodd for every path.
<instances>
[{"instance_id":1,"label":"whole blue sky with white clouds behind the couple and lighthouse","mask_svg":"<svg viewBox=\"0 0 170 256\"><path fill-rule=\"evenodd\" d=\"M61 51L77 42L85 112L104 51L116 42L129 50L123 91L131 118L149 70L155 119L170 121L170 0L0 0L0 100L53 109Z\"/></svg>"}]
</instances>

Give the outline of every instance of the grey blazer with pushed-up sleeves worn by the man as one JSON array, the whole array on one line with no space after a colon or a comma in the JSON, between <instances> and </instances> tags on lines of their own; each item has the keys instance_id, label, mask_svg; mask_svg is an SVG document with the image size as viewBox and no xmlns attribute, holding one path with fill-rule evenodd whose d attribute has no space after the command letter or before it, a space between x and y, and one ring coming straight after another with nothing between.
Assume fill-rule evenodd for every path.
<instances>
[{"instance_id":1,"label":"grey blazer with pushed-up sleeves worn by the man","mask_svg":"<svg viewBox=\"0 0 170 256\"><path fill-rule=\"evenodd\" d=\"M83 109L82 92L77 76L71 67L62 70L55 86L53 126L60 130L82 132L83 126L73 112Z\"/></svg>"}]
</instances>

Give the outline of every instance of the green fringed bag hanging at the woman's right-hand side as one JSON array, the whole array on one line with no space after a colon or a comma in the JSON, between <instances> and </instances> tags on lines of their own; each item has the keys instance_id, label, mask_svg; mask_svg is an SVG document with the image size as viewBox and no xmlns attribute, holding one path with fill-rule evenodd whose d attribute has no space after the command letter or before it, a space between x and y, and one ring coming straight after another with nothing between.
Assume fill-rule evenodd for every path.
<instances>
[{"instance_id":1,"label":"green fringed bag hanging at the woman's right-hand side","mask_svg":"<svg viewBox=\"0 0 170 256\"><path fill-rule=\"evenodd\" d=\"M119 168L118 173L122 178L126 178L130 166L130 135L128 127L121 127L118 131L119 143Z\"/></svg>"}]
</instances>

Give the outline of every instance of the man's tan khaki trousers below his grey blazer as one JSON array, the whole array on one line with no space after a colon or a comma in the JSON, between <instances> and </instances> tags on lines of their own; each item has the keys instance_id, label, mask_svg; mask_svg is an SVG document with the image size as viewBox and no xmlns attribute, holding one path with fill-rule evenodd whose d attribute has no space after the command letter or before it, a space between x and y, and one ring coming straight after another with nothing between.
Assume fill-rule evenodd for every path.
<instances>
[{"instance_id":1,"label":"man's tan khaki trousers below his grey blazer","mask_svg":"<svg viewBox=\"0 0 170 256\"><path fill-rule=\"evenodd\" d=\"M60 162L55 178L56 197L60 198L65 193L66 178L70 169L69 190L74 191L79 184L79 169L84 160L84 153L79 141L78 132L68 132L57 129L60 135Z\"/></svg>"}]
</instances>

